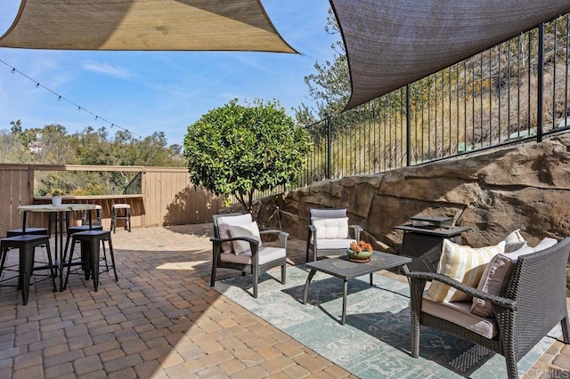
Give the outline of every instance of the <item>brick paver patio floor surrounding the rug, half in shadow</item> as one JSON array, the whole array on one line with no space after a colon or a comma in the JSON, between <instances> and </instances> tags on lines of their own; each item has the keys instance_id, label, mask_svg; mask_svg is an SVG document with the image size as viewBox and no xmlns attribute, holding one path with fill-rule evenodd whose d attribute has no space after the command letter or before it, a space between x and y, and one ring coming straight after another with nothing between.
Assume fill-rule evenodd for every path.
<instances>
[{"instance_id":1,"label":"brick paver patio floor surrounding the rug, half in shadow","mask_svg":"<svg viewBox=\"0 0 570 379\"><path fill-rule=\"evenodd\" d=\"M119 280L102 274L98 292L82 276L55 294L44 281L24 306L1 288L0 378L354 377L209 286L211 230L118 230ZM305 262L303 241L288 250L291 264ZM556 342L525 377L569 370L570 345Z\"/></svg>"}]
</instances>

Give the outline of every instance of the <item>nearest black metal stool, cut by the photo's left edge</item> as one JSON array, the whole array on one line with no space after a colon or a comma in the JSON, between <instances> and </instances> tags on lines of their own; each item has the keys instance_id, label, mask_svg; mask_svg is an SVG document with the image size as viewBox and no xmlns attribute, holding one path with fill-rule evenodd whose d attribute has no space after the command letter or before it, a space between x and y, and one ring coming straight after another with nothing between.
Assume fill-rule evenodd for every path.
<instances>
[{"instance_id":1,"label":"nearest black metal stool, cut by the photo's left edge","mask_svg":"<svg viewBox=\"0 0 570 379\"><path fill-rule=\"evenodd\" d=\"M34 260L37 246L45 246L47 250L47 266L35 267ZM0 239L0 250L2 261L0 262L0 276L4 270L8 250L19 249L20 263L18 270L18 288L21 289L21 297L24 305L28 303L29 280L36 270L49 270L49 277L52 279L53 291L57 291L55 286L55 271L52 262L52 251L50 249L50 238L48 236L24 234L20 236ZM2 280L4 281L4 280Z\"/></svg>"}]
</instances>

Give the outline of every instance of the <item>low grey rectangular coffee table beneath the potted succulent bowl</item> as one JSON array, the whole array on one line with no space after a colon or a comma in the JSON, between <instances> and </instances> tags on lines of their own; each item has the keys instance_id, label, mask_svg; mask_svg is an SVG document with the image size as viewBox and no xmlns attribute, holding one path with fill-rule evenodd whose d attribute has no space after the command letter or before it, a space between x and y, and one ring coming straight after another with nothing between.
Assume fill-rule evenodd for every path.
<instances>
[{"instance_id":1,"label":"low grey rectangular coffee table beneath the potted succulent bowl","mask_svg":"<svg viewBox=\"0 0 570 379\"><path fill-rule=\"evenodd\" d=\"M351 262L348 256L343 255L335 258L322 259L316 262L308 262L305 266L311 269L309 276L305 282L305 294L303 294L303 303L306 304L306 298L309 294L309 284L314 274L317 271L324 272L325 274L332 275L333 277L341 278L344 280L344 292L342 296L342 318L340 324L345 325L346 321L346 294L348 292L348 279L362 277L362 275L370 274L371 286L372 274L379 270L395 269L396 267L403 268L404 273L410 272L407 264L411 262L411 258L402 255L387 254L375 251L370 262L359 263Z\"/></svg>"}]
</instances>

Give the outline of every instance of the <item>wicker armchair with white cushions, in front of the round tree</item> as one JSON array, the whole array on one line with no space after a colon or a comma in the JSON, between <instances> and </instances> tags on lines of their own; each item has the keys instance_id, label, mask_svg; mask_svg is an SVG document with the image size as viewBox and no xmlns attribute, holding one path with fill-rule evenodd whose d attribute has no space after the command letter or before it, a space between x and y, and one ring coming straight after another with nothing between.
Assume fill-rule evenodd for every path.
<instances>
[{"instance_id":1,"label":"wicker armchair with white cushions, in front of the round tree","mask_svg":"<svg viewBox=\"0 0 570 379\"><path fill-rule=\"evenodd\" d=\"M215 214L213 222L214 238L210 238L213 244L210 286L216 283L217 268L240 270L243 275L253 274L253 297L257 297L259 275L277 266L281 266L281 283L285 284L289 233L281 230L258 231L250 214ZM251 233L253 224L258 234ZM264 234L276 235L280 246L260 246L259 235ZM241 250L236 250L236 241L243 241L240 244Z\"/></svg>"}]
</instances>

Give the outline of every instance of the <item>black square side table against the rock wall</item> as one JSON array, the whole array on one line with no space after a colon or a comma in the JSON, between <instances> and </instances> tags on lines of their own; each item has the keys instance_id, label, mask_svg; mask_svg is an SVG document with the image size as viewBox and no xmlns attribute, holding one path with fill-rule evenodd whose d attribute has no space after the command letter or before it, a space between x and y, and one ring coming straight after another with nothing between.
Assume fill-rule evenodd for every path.
<instances>
[{"instance_id":1,"label":"black square side table against the rock wall","mask_svg":"<svg viewBox=\"0 0 570 379\"><path fill-rule=\"evenodd\" d=\"M408 268L411 271L436 272L444 239L460 244L461 233L470 228L453 226L432 229L398 225L394 229L403 230L402 255L411 257Z\"/></svg>"}]
</instances>

